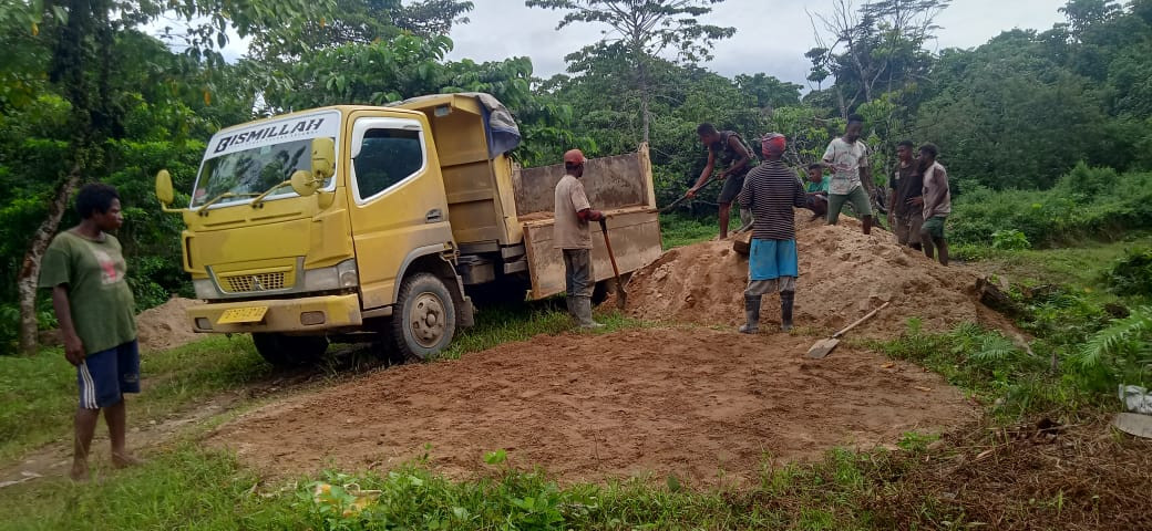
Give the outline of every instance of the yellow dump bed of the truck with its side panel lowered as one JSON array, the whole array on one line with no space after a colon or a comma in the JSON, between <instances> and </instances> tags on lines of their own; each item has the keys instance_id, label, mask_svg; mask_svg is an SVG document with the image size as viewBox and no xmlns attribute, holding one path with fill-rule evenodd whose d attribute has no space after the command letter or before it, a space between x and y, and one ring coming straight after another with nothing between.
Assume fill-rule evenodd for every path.
<instances>
[{"instance_id":1,"label":"yellow dump bed of the truck with its side panel lowered","mask_svg":"<svg viewBox=\"0 0 1152 531\"><path fill-rule=\"evenodd\" d=\"M510 115L499 115L507 109L486 94L429 95L397 106L429 118L461 253L499 256L505 274L526 270L530 299L562 293L564 268L560 251L552 247L552 210L563 164L521 169L514 163L506 152L515 147L509 137L518 141L518 131L500 128L499 121L507 125ZM622 275L660 256L647 146L589 160L582 182L592 208L609 215L608 233ZM594 277L606 280L613 277L612 263L600 228L593 224L593 232Z\"/></svg>"}]
</instances>

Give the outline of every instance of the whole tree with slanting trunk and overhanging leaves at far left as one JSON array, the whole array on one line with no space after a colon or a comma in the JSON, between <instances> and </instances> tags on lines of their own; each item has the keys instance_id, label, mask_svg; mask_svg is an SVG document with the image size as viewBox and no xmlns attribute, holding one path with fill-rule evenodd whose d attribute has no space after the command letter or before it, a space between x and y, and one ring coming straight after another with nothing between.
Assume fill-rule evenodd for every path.
<instances>
[{"instance_id":1,"label":"whole tree with slanting trunk and overhanging leaves at far left","mask_svg":"<svg viewBox=\"0 0 1152 531\"><path fill-rule=\"evenodd\" d=\"M24 21L35 37L47 40L51 62L41 67L70 108L68 168L53 177L54 192L44 221L29 241L18 272L21 311L20 346L36 349L36 284L40 259L67 209L73 191L93 171L106 164L106 141L124 134L123 108L115 105L111 90L112 51L119 32L143 26L161 15L173 14L187 22L182 36L185 54L209 67L222 66L217 47L227 44L226 30L242 37L260 28L282 24L293 17L319 17L332 0L278 0L232 2L229 0L67 0L16 2L0 9L0 20ZM40 25L45 25L44 31ZM94 71L89 66L96 66ZM205 100L209 95L205 95Z\"/></svg>"}]
</instances>

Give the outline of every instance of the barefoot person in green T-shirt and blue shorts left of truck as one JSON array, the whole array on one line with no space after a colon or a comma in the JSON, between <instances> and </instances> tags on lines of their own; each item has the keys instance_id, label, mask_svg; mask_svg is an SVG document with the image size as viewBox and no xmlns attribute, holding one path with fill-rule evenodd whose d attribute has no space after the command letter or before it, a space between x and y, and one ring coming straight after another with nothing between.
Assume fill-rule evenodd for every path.
<instances>
[{"instance_id":1,"label":"barefoot person in green T-shirt and blue shorts left of truck","mask_svg":"<svg viewBox=\"0 0 1152 531\"><path fill-rule=\"evenodd\" d=\"M56 234L44 253L40 287L52 290L52 307L63 334L65 357L76 367L76 409L71 478L86 480L88 453L104 410L112 440L112 463L137 464L124 447L123 393L138 393L139 351L132 291L120 241L108 233L120 228L120 195L105 184L89 184L76 194L78 225Z\"/></svg>"}]
</instances>

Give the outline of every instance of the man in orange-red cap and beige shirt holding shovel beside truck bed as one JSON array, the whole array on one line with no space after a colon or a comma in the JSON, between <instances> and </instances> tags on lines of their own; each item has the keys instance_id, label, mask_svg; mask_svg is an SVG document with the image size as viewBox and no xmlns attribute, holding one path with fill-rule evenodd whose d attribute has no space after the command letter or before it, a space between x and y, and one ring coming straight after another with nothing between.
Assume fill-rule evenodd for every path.
<instances>
[{"instance_id":1,"label":"man in orange-red cap and beige shirt holding shovel beside truck bed","mask_svg":"<svg viewBox=\"0 0 1152 531\"><path fill-rule=\"evenodd\" d=\"M568 314L585 329L604 326L592 321L592 233L589 222L604 220L593 210L584 193L584 153L570 149L564 153L564 176L556 183L556 202L553 213L555 225L552 241L564 255L564 287L568 290Z\"/></svg>"}]
</instances>

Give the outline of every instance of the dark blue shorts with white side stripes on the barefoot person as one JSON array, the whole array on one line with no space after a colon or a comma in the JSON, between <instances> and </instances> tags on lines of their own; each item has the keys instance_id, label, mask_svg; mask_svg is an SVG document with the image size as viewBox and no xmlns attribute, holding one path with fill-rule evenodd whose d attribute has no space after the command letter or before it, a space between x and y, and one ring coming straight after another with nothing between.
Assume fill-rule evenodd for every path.
<instances>
[{"instance_id":1,"label":"dark blue shorts with white side stripes on the barefoot person","mask_svg":"<svg viewBox=\"0 0 1152 531\"><path fill-rule=\"evenodd\" d=\"M123 400L123 393L141 392L141 353L136 340L89 354L76 368L76 383L83 409L112 407Z\"/></svg>"}]
</instances>

